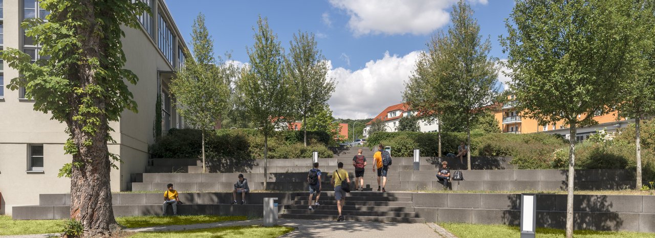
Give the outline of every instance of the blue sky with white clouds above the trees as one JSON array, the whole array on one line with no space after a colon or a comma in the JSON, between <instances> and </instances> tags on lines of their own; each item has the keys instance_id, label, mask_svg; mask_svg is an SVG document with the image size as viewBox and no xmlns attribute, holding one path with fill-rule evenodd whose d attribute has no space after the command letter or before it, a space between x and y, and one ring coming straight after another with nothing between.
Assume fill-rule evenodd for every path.
<instances>
[{"instance_id":1,"label":"blue sky with white clouds above the trees","mask_svg":"<svg viewBox=\"0 0 655 238\"><path fill-rule=\"evenodd\" d=\"M316 34L330 61L329 77L337 89L328 101L337 118L370 118L402 101L403 82L411 75L418 52L439 29L446 29L453 0L322 1L166 1L187 44L199 12L215 43L215 52L231 52L248 62L257 16L269 19L284 48L294 33ZM491 56L504 59L498 35L506 34L512 0L469 0L483 36L490 36ZM507 80L500 76L501 81Z\"/></svg>"}]
</instances>

